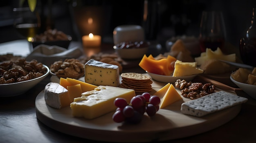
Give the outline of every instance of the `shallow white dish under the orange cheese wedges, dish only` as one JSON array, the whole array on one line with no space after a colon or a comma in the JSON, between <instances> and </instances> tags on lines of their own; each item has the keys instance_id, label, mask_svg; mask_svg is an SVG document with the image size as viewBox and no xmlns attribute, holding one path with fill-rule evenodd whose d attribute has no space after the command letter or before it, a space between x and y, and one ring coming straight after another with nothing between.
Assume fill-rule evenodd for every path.
<instances>
[{"instance_id":1,"label":"shallow white dish under the orange cheese wedges, dish only","mask_svg":"<svg viewBox=\"0 0 256 143\"><path fill-rule=\"evenodd\" d=\"M146 73L150 75L150 77L155 81L164 82L164 83L169 82L171 84L174 84L177 81L177 79L181 79L181 80L184 79L189 82L197 76L197 74L195 74L195 75L189 75L189 76L183 76L183 77L173 77L173 76L167 76L167 75L157 75L155 73L149 73L148 71L146 71Z\"/></svg>"}]
</instances>

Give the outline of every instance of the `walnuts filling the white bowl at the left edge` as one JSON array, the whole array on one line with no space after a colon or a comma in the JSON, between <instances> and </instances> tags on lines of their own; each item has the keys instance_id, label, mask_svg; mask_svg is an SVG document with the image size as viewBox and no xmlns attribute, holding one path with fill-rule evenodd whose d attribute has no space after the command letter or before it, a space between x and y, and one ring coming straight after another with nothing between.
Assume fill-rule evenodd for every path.
<instances>
[{"instance_id":1,"label":"walnuts filling the white bowl at the left edge","mask_svg":"<svg viewBox=\"0 0 256 143\"><path fill-rule=\"evenodd\" d=\"M47 68L35 59L26 61L25 58L4 61L0 64L0 84L11 84L27 81L44 75Z\"/></svg>"}]
</instances>

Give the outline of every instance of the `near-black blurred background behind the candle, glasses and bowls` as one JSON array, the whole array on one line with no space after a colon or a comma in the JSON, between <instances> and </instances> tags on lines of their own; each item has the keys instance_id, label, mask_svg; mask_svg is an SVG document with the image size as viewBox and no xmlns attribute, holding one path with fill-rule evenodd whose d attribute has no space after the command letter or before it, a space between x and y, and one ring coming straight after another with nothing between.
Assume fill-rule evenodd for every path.
<instances>
[{"instance_id":1,"label":"near-black blurred background behind the candle, glasses and bowls","mask_svg":"<svg viewBox=\"0 0 256 143\"><path fill-rule=\"evenodd\" d=\"M202 11L218 10L223 12L225 19L227 42L237 47L251 24L252 8L256 7L256 0L148 0L151 19L144 22L144 0L37 1L36 9L42 20L41 32L45 30L48 19L52 28L71 35L75 41L81 41L81 36L92 32L101 35L102 41L108 43L113 42L114 28L123 24L143 26L146 40L160 43L178 35L198 37ZM0 43L21 39L12 26L12 9L17 6L18 0L1 1ZM94 17L97 25L86 30L84 23L89 15Z\"/></svg>"}]
</instances>

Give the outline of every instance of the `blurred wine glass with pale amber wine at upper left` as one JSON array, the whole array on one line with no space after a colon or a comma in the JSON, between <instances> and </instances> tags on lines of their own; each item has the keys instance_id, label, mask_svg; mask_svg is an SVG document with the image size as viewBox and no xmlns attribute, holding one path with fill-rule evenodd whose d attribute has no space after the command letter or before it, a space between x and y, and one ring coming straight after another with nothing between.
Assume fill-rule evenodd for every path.
<instances>
[{"instance_id":1,"label":"blurred wine glass with pale amber wine at upper left","mask_svg":"<svg viewBox=\"0 0 256 143\"><path fill-rule=\"evenodd\" d=\"M40 15L37 11L32 12L29 7L13 8L13 26L22 38L29 42L34 41L34 37L40 29Z\"/></svg>"}]
</instances>

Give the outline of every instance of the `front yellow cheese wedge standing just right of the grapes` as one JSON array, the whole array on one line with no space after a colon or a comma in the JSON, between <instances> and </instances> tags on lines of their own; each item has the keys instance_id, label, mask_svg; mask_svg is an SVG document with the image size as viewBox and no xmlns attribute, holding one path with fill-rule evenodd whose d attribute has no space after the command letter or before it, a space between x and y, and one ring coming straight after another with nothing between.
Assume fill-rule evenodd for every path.
<instances>
[{"instance_id":1,"label":"front yellow cheese wedge standing just right of the grapes","mask_svg":"<svg viewBox=\"0 0 256 143\"><path fill-rule=\"evenodd\" d=\"M182 99L182 97L177 92L177 90L175 89L173 84L171 84L171 86L169 86L167 92L165 93L163 99L161 100L161 102L159 104L159 108L162 109L162 108L164 108L178 100L181 100L181 99Z\"/></svg>"}]
</instances>

